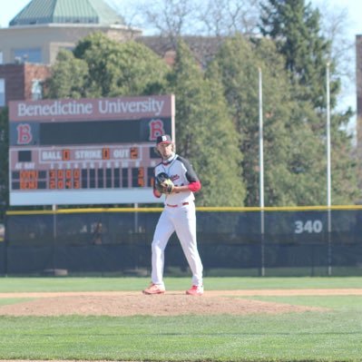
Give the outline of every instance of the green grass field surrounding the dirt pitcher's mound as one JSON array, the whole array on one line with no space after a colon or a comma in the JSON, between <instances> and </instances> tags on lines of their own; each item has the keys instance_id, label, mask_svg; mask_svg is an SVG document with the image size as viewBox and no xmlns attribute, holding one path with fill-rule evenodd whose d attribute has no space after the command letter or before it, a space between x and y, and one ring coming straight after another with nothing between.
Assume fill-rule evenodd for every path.
<instances>
[{"instance_id":1,"label":"green grass field surrounding the dirt pitcher's mound","mask_svg":"<svg viewBox=\"0 0 362 362\"><path fill-rule=\"evenodd\" d=\"M142 278L3 278L0 293L136 291L148 282ZM166 279L170 291L186 289L189 283L190 279ZM205 288L362 289L362 278L206 278ZM140 298L150 297L140 293ZM326 309L244 316L154 317L152 310L133 317L0 316L0 359L362 361L361 295L242 298ZM24 299L2 294L0 312L2 306Z\"/></svg>"}]
</instances>

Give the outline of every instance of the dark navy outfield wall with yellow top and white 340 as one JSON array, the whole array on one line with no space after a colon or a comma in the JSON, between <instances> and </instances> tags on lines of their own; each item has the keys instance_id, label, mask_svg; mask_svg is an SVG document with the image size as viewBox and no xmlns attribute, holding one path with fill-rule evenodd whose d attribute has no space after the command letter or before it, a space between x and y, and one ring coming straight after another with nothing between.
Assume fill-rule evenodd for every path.
<instances>
[{"instance_id":1,"label":"dark navy outfield wall with yellow top and white 340","mask_svg":"<svg viewBox=\"0 0 362 362\"><path fill-rule=\"evenodd\" d=\"M8 211L0 274L149 275L161 209ZM198 208L205 275L362 275L362 208ZM102 224L102 230L99 225ZM175 235L166 275L188 275Z\"/></svg>"}]
</instances>

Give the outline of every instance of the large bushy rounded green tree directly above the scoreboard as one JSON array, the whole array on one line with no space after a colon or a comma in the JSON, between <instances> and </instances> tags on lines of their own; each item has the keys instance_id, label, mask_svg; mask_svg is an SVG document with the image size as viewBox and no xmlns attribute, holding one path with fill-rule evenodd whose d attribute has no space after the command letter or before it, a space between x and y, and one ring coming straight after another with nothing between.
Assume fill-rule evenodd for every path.
<instances>
[{"instance_id":1,"label":"large bushy rounded green tree directly above the scoreboard","mask_svg":"<svg viewBox=\"0 0 362 362\"><path fill-rule=\"evenodd\" d=\"M74 49L89 67L87 89L93 96L159 93L166 64L150 48L134 41L118 43L102 33L84 38Z\"/></svg>"}]
</instances>

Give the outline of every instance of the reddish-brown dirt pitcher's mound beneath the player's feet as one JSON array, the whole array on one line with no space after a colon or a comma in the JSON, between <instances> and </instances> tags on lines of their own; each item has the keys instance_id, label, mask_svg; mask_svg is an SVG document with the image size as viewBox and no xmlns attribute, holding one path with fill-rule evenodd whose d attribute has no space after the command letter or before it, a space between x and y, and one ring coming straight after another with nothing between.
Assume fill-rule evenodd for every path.
<instances>
[{"instance_id":1,"label":"reddish-brown dirt pitcher's mound beneath the player's feet","mask_svg":"<svg viewBox=\"0 0 362 362\"><path fill-rule=\"evenodd\" d=\"M206 293L205 293L206 294ZM23 298L25 295L23 296ZM288 313L308 310L324 310L289 304L249 300L235 296L191 297L181 292L145 296L142 293L118 293L117 295L56 295L34 298L0 307L0 315L11 316L177 316L185 314L244 315L251 313Z\"/></svg>"}]
</instances>

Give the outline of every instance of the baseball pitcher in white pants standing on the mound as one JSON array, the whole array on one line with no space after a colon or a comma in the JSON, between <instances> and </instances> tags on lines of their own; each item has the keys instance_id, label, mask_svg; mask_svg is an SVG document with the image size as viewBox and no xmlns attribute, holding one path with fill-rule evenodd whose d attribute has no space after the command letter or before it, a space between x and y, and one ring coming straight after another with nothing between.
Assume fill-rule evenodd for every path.
<instances>
[{"instance_id":1,"label":"baseball pitcher in white pants standing on the mound","mask_svg":"<svg viewBox=\"0 0 362 362\"><path fill-rule=\"evenodd\" d=\"M152 283L143 290L144 294L163 294L164 250L171 237L176 234L192 272L191 289L186 294L203 294L202 263L196 240L196 212L194 192L201 189L201 181L191 163L175 153L174 143L168 134L159 136L156 151L162 161L155 167L153 194L160 198L165 195L161 212L152 240Z\"/></svg>"}]
</instances>

